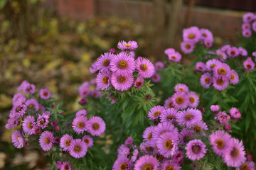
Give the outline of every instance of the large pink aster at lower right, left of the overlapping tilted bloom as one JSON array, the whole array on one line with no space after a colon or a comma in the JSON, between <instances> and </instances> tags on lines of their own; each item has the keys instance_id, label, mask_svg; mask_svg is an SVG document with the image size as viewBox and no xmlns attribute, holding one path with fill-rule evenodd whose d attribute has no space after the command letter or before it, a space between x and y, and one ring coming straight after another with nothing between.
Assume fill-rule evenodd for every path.
<instances>
[{"instance_id":1,"label":"large pink aster at lower right, left of the overlapping tilted bloom","mask_svg":"<svg viewBox=\"0 0 256 170\"><path fill-rule=\"evenodd\" d=\"M223 156L227 149L229 149L229 144L231 136L224 132L223 130L217 130L209 135L210 145L213 146L213 151L219 156Z\"/></svg>"}]
</instances>

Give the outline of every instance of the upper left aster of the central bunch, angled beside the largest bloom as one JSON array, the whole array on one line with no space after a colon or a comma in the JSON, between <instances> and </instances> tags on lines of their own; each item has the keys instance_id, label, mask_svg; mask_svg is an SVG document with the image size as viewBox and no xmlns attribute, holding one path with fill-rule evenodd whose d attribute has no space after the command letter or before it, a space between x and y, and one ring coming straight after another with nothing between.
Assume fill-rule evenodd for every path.
<instances>
[{"instance_id":1,"label":"upper left aster of the central bunch, angled beside the largest bloom","mask_svg":"<svg viewBox=\"0 0 256 170\"><path fill-rule=\"evenodd\" d=\"M109 52L105 52L104 55L100 55L97 58L96 67L100 72L110 72L110 61L114 58L114 55Z\"/></svg>"}]
</instances>

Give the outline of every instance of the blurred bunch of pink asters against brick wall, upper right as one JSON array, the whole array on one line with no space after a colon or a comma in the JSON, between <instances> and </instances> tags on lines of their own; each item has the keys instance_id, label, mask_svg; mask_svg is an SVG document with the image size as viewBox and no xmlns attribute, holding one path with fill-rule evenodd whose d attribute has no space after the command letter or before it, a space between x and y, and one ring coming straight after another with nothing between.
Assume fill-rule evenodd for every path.
<instances>
[{"instance_id":1,"label":"blurred bunch of pink asters against brick wall, upper right","mask_svg":"<svg viewBox=\"0 0 256 170\"><path fill-rule=\"evenodd\" d=\"M196 26L184 29L181 51L185 54L190 54L198 42L204 44L206 47L211 47L213 44L213 33L208 29L199 29Z\"/></svg>"}]
</instances>

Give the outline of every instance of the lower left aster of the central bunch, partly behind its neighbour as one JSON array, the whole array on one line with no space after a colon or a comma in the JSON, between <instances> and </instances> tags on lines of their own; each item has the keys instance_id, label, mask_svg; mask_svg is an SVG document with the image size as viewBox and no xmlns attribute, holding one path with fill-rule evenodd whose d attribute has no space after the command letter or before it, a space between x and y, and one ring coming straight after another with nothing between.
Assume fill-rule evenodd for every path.
<instances>
[{"instance_id":1,"label":"lower left aster of the central bunch, partly behind its neighbour","mask_svg":"<svg viewBox=\"0 0 256 170\"><path fill-rule=\"evenodd\" d=\"M110 79L110 72L99 72L96 78L97 88L100 90L108 89L110 87Z\"/></svg>"}]
</instances>

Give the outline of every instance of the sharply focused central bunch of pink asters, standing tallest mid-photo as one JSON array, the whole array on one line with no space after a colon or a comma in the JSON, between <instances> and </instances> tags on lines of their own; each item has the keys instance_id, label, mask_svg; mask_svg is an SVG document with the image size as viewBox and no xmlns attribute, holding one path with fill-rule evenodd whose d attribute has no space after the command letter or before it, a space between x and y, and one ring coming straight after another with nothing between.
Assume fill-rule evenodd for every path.
<instances>
[{"instance_id":1,"label":"sharply focused central bunch of pink asters, standing tallest mid-photo","mask_svg":"<svg viewBox=\"0 0 256 170\"><path fill-rule=\"evenodd\" d=\"M145 78L154 74L154 65L144 57L135 60L134 52L138 45L135 41L120 41L117 47L122 50L114 54L111 49L98 57L90 67L90 72L98 72L96 82L97 90L106 90L113 87L118 91L127 91L133 85L141 87ZM135 81L134 81L135 77Z\"/></svg>"}]
</instances>

